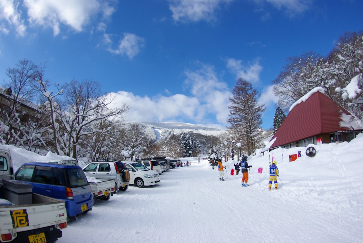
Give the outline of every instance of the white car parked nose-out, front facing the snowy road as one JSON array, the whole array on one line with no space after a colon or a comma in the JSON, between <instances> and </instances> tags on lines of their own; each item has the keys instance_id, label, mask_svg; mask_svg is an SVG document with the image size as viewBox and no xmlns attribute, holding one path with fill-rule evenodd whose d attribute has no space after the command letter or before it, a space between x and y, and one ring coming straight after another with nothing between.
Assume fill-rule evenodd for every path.
<instances>
[{"instance_id":1,"label":"white car parked nose-out, front facing the snowy road","mask_svg":"<svg viewBox=\"0 0 363 243\"><path fill-rule=\"evenodd\" d=\"M130 184L137 187L152 186L160 183L160 175L138 162L124 162L130 171Z\"/></svg>"}]
</instances>

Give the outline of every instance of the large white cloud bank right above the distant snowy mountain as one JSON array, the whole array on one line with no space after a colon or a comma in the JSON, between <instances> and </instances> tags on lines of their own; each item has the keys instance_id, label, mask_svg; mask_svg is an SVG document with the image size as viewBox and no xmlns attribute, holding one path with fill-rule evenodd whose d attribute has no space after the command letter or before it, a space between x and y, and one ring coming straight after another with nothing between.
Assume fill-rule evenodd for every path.
<instances>
[{"instance_id":1,"label":"large white cloud bank right above the distant snowy mountain","mask_svg":"<svg viewBox=\"0 0 363 243\"><path fill-rule=\"evenodd\" d=\"M127 121L180 121L224 129L229 114L231 92L227 84L219 81L212 66L201 64L196 71L187 70L185 83L191 89L191 96L174 94L170 96L140 97L131 92L116 93L116 106L126 103L131 107L126 114ZM207 86L207 87L205 87ZM219 124L216 124L219 123Z\"/></svg>"}]
</instances>

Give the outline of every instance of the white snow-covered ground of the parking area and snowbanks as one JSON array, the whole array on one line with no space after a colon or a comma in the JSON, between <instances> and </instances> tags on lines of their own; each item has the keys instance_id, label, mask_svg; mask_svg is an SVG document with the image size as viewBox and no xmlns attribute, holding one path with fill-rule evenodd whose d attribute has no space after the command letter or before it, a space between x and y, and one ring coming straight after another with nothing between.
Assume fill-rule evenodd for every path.
<instances>
[{"instance_id":1,"label":"white snow-covered ground of the parking area and snowbanks","mask_svg":"<svg viewBox=\"0 0 363 243\"><path fill-rule=\"evenodd\" d=\"M315 148L313 158L303 147L249 157L249 187L229 174L237 161L224 162L222 182L207 160L182 158L192 165L168 170L155 187L130 186L98 201L69 222L58 242L363 242L363 134ZM303 156L289 162L298 150ZM23 157L51 160L11 152L18 167ZM272 155L281 181L268 191Z\"/></svg>"}]
</instances>

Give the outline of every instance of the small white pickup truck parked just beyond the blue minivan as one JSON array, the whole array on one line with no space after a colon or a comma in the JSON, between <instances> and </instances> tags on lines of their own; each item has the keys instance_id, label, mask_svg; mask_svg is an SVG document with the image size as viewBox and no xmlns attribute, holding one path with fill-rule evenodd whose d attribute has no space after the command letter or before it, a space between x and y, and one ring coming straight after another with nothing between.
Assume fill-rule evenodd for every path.
<instances>
[{"instance_id":1,"label":"small white pickup truck parked just beyond the blue minivan","mask_svg":"<svg viewBox=\"0 0 363 243\"><path fill-rule=\"evenodd\" d=\"M115 180L87 177L87 181L91 186L93 204L96 203L97 199L109 200L116 193Z\"/></svg>"}]
</instances>

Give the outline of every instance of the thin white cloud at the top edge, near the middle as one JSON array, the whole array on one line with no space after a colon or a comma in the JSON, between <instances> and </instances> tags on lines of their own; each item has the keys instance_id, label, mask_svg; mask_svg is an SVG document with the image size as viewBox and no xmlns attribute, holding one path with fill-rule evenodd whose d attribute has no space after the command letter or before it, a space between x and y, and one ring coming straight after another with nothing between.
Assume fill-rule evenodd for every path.
<instances>
[{"instance_id":1,"label":"thin white cloud at the top edge, near the middle","mask_svg":"<svg viewBox=\"0 0 363 243\"><path fill-rule=\"evenodd\" d=\"M215 20L215 11L220 4L233 0L169 0L169 9L175 21L189 22Z\"/></svg>"}]
</instances>

